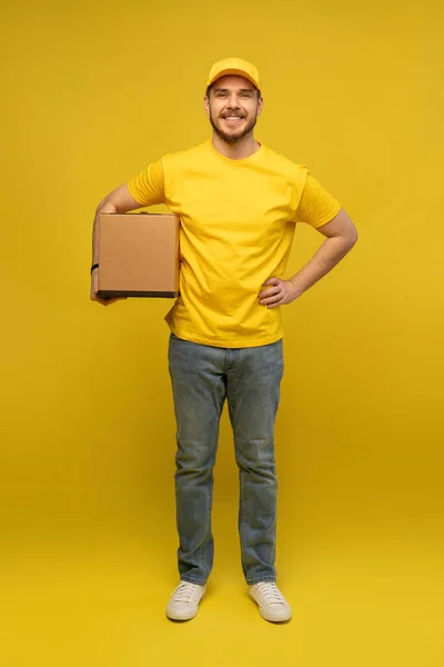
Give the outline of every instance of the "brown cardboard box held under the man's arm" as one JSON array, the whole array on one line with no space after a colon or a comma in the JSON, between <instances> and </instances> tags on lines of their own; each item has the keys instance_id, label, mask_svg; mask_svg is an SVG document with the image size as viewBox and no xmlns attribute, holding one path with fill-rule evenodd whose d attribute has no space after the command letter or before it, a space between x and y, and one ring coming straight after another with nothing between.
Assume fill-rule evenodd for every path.
<instances>
[{"instance_id":1,"label":"brown cardboard box held under the man's arm","mask_svg":"<svg viewBox=\"0 0 444 667\"><path fill-rule=\"evenodd\" d=\"M99 216L99 296L179 296L179 226L173 213Z\"/></svg>"}]
</instances>

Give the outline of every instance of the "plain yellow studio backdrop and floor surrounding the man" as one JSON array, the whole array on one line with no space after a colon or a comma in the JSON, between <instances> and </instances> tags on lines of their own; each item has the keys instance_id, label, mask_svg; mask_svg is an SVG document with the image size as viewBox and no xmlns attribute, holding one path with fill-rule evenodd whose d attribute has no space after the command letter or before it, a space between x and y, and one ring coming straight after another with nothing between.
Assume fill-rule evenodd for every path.
<instances>
[{"instance_id":1,"label":"plain yellow studio backdrop and floor surrounding the man","mask_svg":"<svg viewBox=\"0 0 444 667\"><path fill-rule=\"evenodd\" d=\"M443 18L437 0L3 12L4 665L443 664ZM209 594L190 624L165 619L171 302L89 300L95 206L210 135L204 81L229 56L261 72L256 138L306 163L360 231L284 310L282 627L245 596L226 414ZM297 228L289 276L321 241Z\"/></svg>"}]
</instances>

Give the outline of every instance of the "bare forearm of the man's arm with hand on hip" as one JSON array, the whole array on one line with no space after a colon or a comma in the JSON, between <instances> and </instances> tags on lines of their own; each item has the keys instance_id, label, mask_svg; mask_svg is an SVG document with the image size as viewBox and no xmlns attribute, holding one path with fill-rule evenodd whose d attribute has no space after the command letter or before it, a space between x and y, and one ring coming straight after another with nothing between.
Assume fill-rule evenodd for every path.
<instances>
[{"instance_id":1,"label":"bare forearm of the man's arm with hand on hip","mask_svg":"<svg viewBox=\"0 0 444 667\"><path fill-rule=\"evenodd\" d=\"M297 297L315 285L335 267L353 248L355 237L329 237L312 259L290 280L296 288Z\"/></svg>"}]
</instances>

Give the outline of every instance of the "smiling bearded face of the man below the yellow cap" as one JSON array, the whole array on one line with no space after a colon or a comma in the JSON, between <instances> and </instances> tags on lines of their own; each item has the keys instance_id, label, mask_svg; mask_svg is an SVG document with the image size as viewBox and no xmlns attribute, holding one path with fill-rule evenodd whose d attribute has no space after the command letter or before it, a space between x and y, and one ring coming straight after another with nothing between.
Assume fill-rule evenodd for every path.
<instances>
[{"instance_id":1,"label":"smiling bearded face of the man below the yellow cap","mask_svg":"<svg viewBox=\"0 0 444 667\"><path fill-rule=\"evenodd\" d=\"M253 130L262 106L253 83L234 74L214 81L210 98L205 96L205 112L214 131L232 145Z\"/></svg>"}]
</instances>

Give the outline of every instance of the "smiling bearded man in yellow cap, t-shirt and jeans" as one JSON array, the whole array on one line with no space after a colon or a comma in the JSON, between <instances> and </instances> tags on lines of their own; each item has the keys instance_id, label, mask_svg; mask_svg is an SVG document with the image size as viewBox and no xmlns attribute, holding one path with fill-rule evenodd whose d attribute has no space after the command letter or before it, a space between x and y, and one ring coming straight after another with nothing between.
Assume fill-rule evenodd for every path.
<instances>
[{"instance_id":1,"label":"smiling bearded man in yellow cap, t-shirt and jeans","mask_svg":"<svg viewBox=\"0 0 444 667\"><path fill-rule=\"evenodd\" d=\"M212 139L151 163L97 209L97 216L121 213L163 202L181 220L181 296L165 317L178 427L180 584L167 607L172 619L196 615L213 566L213 466L225 399L240 471L239 532L249 593L263 618L291 618L274 567L280 307L325 276L357 235L305 167L254 139L262 108L256 68L239 58L216 62L204 97ZM326 238L285 280L296 220ZM91 298L108 303L97 296L93 236Z\"/></svg>"}]
</instances>

